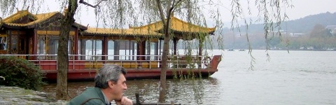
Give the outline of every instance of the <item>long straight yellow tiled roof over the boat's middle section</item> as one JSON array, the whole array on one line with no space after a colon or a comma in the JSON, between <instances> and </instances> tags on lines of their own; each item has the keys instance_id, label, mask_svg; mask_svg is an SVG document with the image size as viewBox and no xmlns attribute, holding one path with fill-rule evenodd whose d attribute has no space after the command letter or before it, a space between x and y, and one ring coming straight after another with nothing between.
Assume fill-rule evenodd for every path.
<instances>
[{"instance_id":1,"label":"long straight yellow tiled roof over the boat's middle section","mask_svg":"<svg viewBox=\"0 0 336 105\"><path fill-rule=\"evenodd\" d=\"M133 36L162 36L155 31L141 29L106 29L89 27L83 31L84 34L111 34L111 35L133 35Z\"/></svg>"}]
</instances>

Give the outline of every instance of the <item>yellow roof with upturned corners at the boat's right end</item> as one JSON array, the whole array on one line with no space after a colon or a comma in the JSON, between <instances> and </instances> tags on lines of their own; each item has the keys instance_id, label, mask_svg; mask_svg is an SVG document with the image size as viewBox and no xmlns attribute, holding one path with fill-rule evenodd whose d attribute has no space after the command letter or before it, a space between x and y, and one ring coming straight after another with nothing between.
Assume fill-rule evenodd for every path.
<instances>
[{"instance_id":1,"label":"yellow roof with upturned corners at the boat's right end","mask_svg":"<svg viewBox=\"0 0 336 105\"><path fill-rule=\"evenodd\" d=\"M174 31L181 32L190 32L190 33L213 33L216 30L214 28L201 27L199 25L194 25L189 22L184 22L183 20L179 20L178 18L172 17L170 29ZM141 27L130 27L130 29L144 29L150 31L160 31L163 28L162 22L154 22L149 25L144 25Z\"/></svg>"}]
</instances>

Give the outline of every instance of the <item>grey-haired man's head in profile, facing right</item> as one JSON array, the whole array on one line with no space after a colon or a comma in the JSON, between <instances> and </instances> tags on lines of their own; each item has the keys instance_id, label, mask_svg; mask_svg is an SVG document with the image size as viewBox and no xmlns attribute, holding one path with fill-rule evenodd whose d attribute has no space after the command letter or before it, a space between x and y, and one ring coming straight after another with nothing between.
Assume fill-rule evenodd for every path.
<instances>
[{"instance_id":1,"label":"grey-haired man's head in profile, facing right","mask_svg":"<svg viewBox=\"0 0 336 105\"><path fill-rule=\"evenodd\" d=\"M104 65L94 78L95 87L100 87L108 99L120 100L127 89L125 74L122 66Z\"/></svg>"}]
</instances>

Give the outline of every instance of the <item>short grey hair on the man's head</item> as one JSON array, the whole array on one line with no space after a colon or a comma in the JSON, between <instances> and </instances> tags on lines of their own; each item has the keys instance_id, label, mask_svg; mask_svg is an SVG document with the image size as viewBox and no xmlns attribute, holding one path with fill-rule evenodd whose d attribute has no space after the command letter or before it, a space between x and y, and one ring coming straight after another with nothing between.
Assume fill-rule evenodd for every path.
<instances>
[{"instance_id":1,"label":"short grey hair on the man's head","mask_svg":"<svg viewBox=\"0 0 336 105\"><path fill-rule=\"evenodd\" d=\"M126 75L126 71L123 66L116 64L106 64L101 69L99 69L96 77L94 77L94 87L106 88L109 87L109 80L117 82L120 73Z\"/></svg>"}]
</instances>

